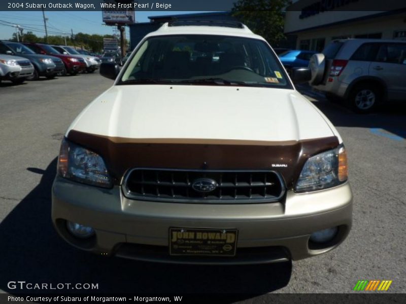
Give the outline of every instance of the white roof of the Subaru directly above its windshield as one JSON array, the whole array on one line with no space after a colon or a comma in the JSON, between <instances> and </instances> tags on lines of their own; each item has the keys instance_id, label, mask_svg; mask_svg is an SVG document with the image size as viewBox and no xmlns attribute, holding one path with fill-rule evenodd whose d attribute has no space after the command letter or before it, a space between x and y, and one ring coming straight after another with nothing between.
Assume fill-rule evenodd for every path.
<instances>
[{"instance_id":1,"label":"white roof of the Subaru directly above its windshield","mask_svg":"<svg viewBox=\"0 0 406 304\"><path fill-rule=\"evenodd\" d=\"M161 36L161 35L182 35L182 34L197 34L197 35L224 35L248 37L265 41L261 36L254 34L246 25L242 24L242 28L215 26L215 25L176 25L171 26L170 23L164 23L156 31L147 34L145 37Z\"/></svg>"}]
</instances>

